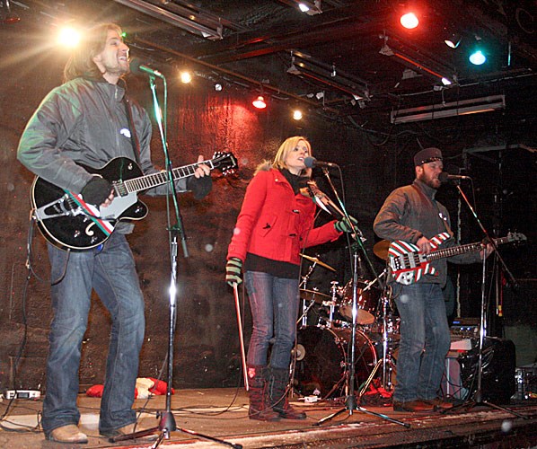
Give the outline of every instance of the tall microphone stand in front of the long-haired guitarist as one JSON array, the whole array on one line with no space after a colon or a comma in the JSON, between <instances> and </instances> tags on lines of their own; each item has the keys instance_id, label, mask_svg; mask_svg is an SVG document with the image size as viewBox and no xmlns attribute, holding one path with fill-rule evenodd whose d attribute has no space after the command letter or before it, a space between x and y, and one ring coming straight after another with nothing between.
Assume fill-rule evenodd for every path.
<instances>
[{"instance_id":1,"label":"tall microphone stand in front of the long-haired guitarist","mask_svg":"<svg viewBox=\"0 0 537 449\"><path fill-rule=\"evenodd\" d=\"M134 432L129 435L122 435L122 436L112 436L110 438L111 443L116 443L119 441L125 441L130 440L134 438L140 438L143 436L149 436L153 435L156 432L159 432L160 434L154 441L154 444L151 445L151 448L154 449L161 445L163 442L163 439L169 439L171 432L175 430L179 430L180 432L183 432L185 434L191 435L191 436L198 436L199 438L213 441L215 443L219 443L221 445L228 445L233 448L242 448L242 445L234 445L233 443L229 443L227 441L221 440L219 438L215 438L213 436L207 436L204 434L200 434L198 432L195 432L194 430L189 430L186 428L178 427L175 422L175 417L172 413L172 382L173 382L173 343L175 339L175 327L176 327L176 319L177 319L177 236L180 235L182 248L184 257L189 257L189 251L187 249L187 242L186 242L186 234L184 233L184 228L182 225L182 220L180 216L180 210L179 210L179 202L177 200L177 189L175 188L175 182L173 180L173 172L172 172L172 161L170 160L170 154L168 152L168 142L166 139L166 130L165 130L165 114L166 114L166 99L167 99L167 84L166 84L166 78L164 75L154 72L154 74L158 74L158 76L163 80L163 87L164 87L164 120L163 115L161 113L161 108L159 106L158 97L156 94L156 84L155 84L155 75L150 74L149 75L149 86L151 88L151 92L153 93L153 103L154 103L154 115L156 118L157 126L159 128L162 144L163 144L163 151L164 151L164 158L165 158L165 164L166 164L166 175L168 179L168 188L169 188L169 195L168 199L172 198L174 211L175 211L175 225L168 225L168 234L169 234L169 243L170 243L170 257L171 257L171 276L170 276L170 288L169 288L169 301L170 301L170 326L168 331L168 375L167 375L167 388L166 388L166 409L164 411L157 412L157 417L160 416L160 422L157 427L151 427L145 430L140 430L139 432ZM169 207L169 203L168 203ZM170 216L170 214L168 214ZM136 427L135 427L136 428Z\"/></svg>"}]
</instances>

